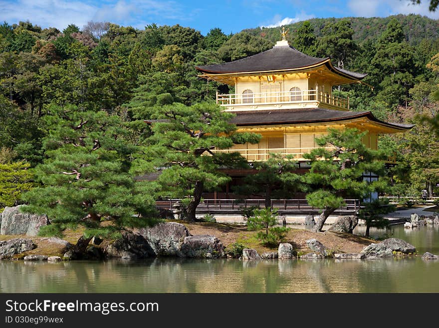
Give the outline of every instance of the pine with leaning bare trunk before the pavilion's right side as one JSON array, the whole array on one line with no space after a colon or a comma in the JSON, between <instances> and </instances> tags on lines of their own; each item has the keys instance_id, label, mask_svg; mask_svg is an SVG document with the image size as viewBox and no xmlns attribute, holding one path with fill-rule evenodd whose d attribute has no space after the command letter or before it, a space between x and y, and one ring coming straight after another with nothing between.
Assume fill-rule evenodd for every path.
<instances>
[{"instance_id":1,"label":"pine with leaning bare trunk before the pavilion's right side","mask_svg":"<svg viewBox=\"0 0 439 328\"><path fill-rule=\"evenodd\" d=\"M362 142L365 134L357 129L329 129L328 135L316 138L316 143L333 149L317 148L304 154L311 161L311 168L303 180L314 186L306 199L309 205L322 209L312 231L322 231L329 215L344 205L343 199L363 199L386 186L384 179L372 182L362 179L365 172L385 174L384 154L366 147Z\"/></svg>"}]
</instances>

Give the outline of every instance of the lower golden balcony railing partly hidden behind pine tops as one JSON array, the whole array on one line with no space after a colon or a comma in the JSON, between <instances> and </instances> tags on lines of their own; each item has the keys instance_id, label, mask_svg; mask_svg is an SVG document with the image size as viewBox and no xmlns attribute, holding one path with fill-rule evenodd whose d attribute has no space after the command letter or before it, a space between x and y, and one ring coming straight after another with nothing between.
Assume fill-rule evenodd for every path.
<instances>
[{"instance_id":1,"label":"lower golden balcony railing partly hidden behind pine tops","mask_svg":"<svg viewBox=\"0 0 439 328\"><path fill-rule=\"evenodd\" d=\"M213 152L233 153L238 152L249 162L266 161L270 158L270 154L275 153L281 156L292 155L292 159L296 161L306 161L303 154L310 153L311 150L322 147L308 148L256 148L256 149L214 149ZM325 147L325 149L333 149Z\"/></svg>"}]
</instances>

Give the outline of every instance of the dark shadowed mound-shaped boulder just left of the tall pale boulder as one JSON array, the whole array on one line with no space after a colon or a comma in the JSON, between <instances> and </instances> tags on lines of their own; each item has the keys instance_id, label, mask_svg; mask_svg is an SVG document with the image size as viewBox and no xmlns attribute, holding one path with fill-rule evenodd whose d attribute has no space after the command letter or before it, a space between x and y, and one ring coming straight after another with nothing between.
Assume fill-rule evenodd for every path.
<instances>
[{"instance_id":1,"label":"dark shadowed mound-shaped boulder just left of the tall pale boulder","mask_svg":"<svg viewBox=\"0 0 439 328\"><path fill-rule=\"evenodd\" d=\"M138 258L144 259L154 256L155 253L146 239L132 232L122 233L122 237L104 249L107 258Z\"/></svg>"}]
</instances>

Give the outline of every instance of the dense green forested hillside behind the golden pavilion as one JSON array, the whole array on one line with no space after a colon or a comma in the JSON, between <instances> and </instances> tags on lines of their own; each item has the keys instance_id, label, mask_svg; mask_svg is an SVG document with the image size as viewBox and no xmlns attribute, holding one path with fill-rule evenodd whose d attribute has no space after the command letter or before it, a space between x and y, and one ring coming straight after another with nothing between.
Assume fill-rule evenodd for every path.
<instances>
[{"instance_id":1,"label":"dense green forested hillside behind the golden pavilion","mask_svg":"<svg viewBox=\"0 0 439 328\"><path fill-rule=\"evenodd\" d=\"M280 39L279 28L226 35L212 27L203 36L180 25L135 29L89 22L60 31L29 21L4 22L0 25L0 164L21 172L42 163L55 147L47 140L57 120L68 121L78 112L118 116L128 131L124 138L141 145L150 133L143 119L158 106L190 106L213 100L217 90L228 92L226 85L200 79L195 65L243 58L269 49ZM331 56L339 67L369 74L364 82L372 87L346 85L334 91L349 96L353 110L417 123L412 132L385 137L381 145L397 154L400 162L390 172L394 192L416 194L428 188L433 193L439 182L439 142L416 115L438 112L438 21L419 15L315 18L285 27L290 45L300 51ZM41 183L25 174L17 176L16 181L25 185L23 191L31 187L30 182ZM1 179L0 174L0 188L10 183ZM19 193L4 198L0 192L0 208L19 202Z\"/></svg>"}]
</instances>

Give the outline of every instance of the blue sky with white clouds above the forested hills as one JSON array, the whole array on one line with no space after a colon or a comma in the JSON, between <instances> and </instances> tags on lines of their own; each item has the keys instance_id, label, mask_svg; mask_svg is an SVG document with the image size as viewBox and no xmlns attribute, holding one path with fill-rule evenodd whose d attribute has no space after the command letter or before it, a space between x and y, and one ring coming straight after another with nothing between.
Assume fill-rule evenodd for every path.
<instances>
[{"instance_id":1,"label":"blue sky with white clouds above the forested hills","mask_svg":"<svg viewBox=\"0 0 439 328\"><path fill-rule=\"evenodd\" d=\"M434 19L429 0L0 0L0 21L30 20L41 27L63 29L73 23L110 21L143 29L145 25L189 26L206 35L219 27L224 33L244 28L280 26L313 17L385 17L417 13Z\"/></svg>"}]
</instances>

